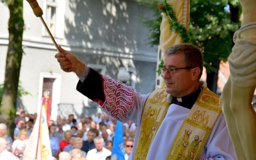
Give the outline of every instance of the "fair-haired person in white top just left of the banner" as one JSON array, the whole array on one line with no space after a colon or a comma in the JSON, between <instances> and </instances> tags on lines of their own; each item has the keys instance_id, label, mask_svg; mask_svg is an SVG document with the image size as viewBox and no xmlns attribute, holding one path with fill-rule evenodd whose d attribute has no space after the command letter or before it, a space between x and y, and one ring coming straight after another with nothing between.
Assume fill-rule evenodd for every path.
<instances>
[{"instance_id":1,"label":"fair-haired person in white top just left of the banner","mask_svg":"<svg viewBox=\"0 0 256 160\"><path fill-rule=\"evenodd\" d=\"M28 131L26 129L20 129L18 139L12 143L12 153L22 159L23 152L28 144Z\"/></svg>"}]
</instances>

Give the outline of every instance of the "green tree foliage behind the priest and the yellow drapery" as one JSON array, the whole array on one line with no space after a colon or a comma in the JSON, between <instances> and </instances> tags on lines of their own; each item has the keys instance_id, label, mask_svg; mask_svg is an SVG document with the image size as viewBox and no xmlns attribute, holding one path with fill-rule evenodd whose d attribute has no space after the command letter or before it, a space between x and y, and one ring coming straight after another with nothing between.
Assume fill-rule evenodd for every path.
<instances>
[{"instance_id":1,"label":"green tree foliage behind the priest and the yellow drapery","mask_svg":"<svg viewBox=\"0 0 256 160\"><path fill-rule=\"evenodd\" d=\"M161 14L158 1L140 1L151 6L154 18L143 19L150 29L148 36L151 45L159 45ZM232 36L239 28L241 13L238 0L193 0L190 1L190 42L204 52L204 66L207 70L207 86L213 92L217 90L220 61L227 61L231 52ZM151 33L155 32L155 33Z\"/></svg>"}]
</instances>

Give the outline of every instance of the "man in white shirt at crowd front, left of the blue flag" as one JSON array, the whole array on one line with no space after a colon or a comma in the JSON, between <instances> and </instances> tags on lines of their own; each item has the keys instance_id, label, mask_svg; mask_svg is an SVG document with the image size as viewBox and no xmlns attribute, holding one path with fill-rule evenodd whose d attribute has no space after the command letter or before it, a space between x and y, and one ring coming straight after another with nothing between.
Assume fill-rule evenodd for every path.
<instances>
[{"instance_id":1,"label":"man in white shirt at crowd front, left of the blue flag","mask_svg":"<svg viewBox=\"0 0 256 160\"><path fill-rule=\"evenodd\" d=\"M105 160L106 157L111 156L111 151L104 148L104 140L102 137L94 138L95 148L89 150L86 156L87 160Z\"/></svg>"}]
</instances>

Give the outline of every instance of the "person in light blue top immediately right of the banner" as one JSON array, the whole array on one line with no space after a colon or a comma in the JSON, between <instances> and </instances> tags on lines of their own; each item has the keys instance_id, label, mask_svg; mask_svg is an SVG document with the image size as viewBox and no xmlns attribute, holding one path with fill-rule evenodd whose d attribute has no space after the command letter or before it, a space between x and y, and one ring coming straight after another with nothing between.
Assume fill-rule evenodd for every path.
<instances>
[{"instance_id":1,"label":"person in light blue top immediately right of the banner","mask_svg":"<svg viewBox=\"0 0 256 160\"><path fill-rule=\"evenodd\" d=\"M57 127L54 124L49 126L49 137L51 143L52 156L57 158L60 154L60 146L58 139L55 137L56 128Z\"/></svg>"}]
</instances>

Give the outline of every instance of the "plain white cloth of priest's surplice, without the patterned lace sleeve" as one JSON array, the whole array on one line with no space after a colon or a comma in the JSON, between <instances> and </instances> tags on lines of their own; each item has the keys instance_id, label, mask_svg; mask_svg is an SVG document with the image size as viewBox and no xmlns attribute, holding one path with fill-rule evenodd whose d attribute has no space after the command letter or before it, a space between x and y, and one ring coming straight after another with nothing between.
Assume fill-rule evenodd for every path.
<instances>
[{"instance_id":1,"label":"plain white cloth of priest's surplice, without the patterned lace sleeve","mask_svg":"<svg viewBox=\"0 0 256 160\"><path fill-rule=\"evenodd\" d=\"M134 146L129 159L134 159L134 153L136 151L136 145L138 142L138 135L140 133L140 118L143 105L149 95L136 95L136 108L129 112L132 122L137 124L136 135L134 138ZM188 115L190 109L178 106L177 104L171 104L168 108L166 116L160 125L152 144L148 150L147 159L166 159L170 148L172 147L173 140L179 131L182 122ZM229 138L225 118L221 113L218 118L208 140L205 143L204 149L202 150L201 158L213 157L216 160L222 159L236 159L236 154L232 146L232 142Z\"/></svg>"}]
</instances>

